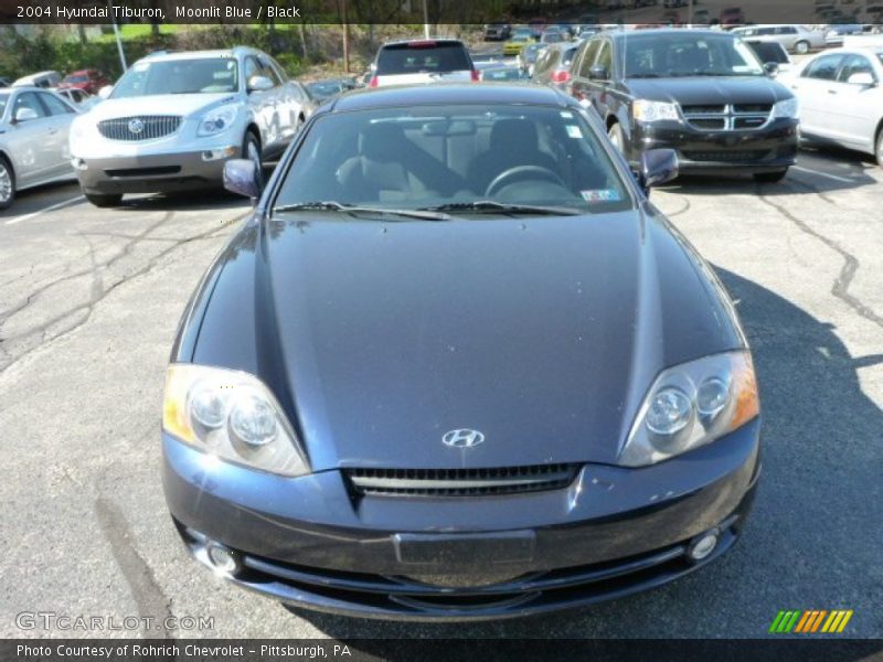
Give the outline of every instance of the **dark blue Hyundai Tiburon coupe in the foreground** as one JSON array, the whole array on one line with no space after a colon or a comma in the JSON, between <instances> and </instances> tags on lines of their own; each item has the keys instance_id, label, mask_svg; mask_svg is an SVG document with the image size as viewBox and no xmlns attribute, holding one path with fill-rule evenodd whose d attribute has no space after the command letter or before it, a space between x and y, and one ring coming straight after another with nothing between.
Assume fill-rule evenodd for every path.
<instances>
[{"instance_id":1,"label":"dark blue Hyundai Tiburon coupe in the foreground","mask_svg":"<svg viewBox=\"0 0 883 662\"><path fill-rule=\"evenodd\" d=\"M257 197L255 168L227 185ZM467 619L586 605L740 535L752 356L604 127L541 87L344 95L189 303L169 508L195 557L307 607Z\"/></svg>"}]
</instances>

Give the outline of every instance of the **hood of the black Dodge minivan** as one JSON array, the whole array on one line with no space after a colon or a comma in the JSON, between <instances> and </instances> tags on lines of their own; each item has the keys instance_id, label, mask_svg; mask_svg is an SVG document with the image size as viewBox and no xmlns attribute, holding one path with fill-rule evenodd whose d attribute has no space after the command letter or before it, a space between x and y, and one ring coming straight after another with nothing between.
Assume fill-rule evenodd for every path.
<instances>
[{"instance_id":1,"label":"hood of the black Dodge minivan","mask_svg":"<svg viewBox=\"0 0 883 662\"><path fill-rule=\"evenodd\" d=\"M766 76L684 76L629 78L635 98L681 105L775 104L791 93Z\"/></svg>"}]
</instances>

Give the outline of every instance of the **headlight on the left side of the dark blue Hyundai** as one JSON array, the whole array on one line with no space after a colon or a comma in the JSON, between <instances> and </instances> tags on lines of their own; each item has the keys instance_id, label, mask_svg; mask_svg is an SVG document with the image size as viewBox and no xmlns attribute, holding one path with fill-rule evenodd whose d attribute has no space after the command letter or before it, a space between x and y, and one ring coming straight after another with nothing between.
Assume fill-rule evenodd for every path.
<instances>
[{"instance_id":1,"label":"headlight on the left side of the dark blue Hyundai","mask_svg":"<svg viewBox=\"0 0 883 662\"><path fill-rule=\"evenodd\" d=\"M279 403L259 380L244 372L170 365L162 428L231 462L281 476L309 473Z\"/></svg>"}]
</instances>

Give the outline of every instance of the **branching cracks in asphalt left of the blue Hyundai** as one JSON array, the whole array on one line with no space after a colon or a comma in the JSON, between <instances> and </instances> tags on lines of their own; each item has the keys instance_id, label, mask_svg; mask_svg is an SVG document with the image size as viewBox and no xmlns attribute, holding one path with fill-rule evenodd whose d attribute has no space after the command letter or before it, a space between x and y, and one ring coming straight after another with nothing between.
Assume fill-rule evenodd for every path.
<instances>
[{"instance_id":1,"label":"branching cracks in asphalt left of the blue Hyundai","mask_svg":"<svg viewBox=\"0 0 883 662\"><path fill-rule=\"evenodd\" d=\"M146 238L147 234L149 234L150 232L152 232L156 228L160 227L164 223L169 222L174 216L174 212L167 212L162 220L160 220L159 222L150 225L147 229L145 229L143 233L139 233L139 235L137 235L137 237L138 237L137 239L134 239L134 241L127 243L120 250L118 250L113 257L110 257L108 260L106 260L104 263L98 263L97 260L95 260L94 248L93 248L92 244L88 242L88 239L86 239L87 243L89 244L89 248L91 248L91 261L92 261L92 265L89 266L89 268L81 269L76 274L71 274L71 275L64 276L62 278L57 278L57 279L53 280L52 282L46 284L45 286L42 286L36 291L31 292L22 303L13 307L12 309L10 309L8 311L4 311L4 312L0 313L0 325L2 325L7 320L9 320L15 313L18 313L18 312L24 310L25 308L28 308L28 306L34 300L34 298L40 292L43 292L46 289L49 289L50 287L52 287L54 285L57 285L60 282L63 282L63 281L70 280L72 278L78 278L78 277L92 274L93 275L93 280L92 280L92 284L91 284L89 301L85 302L85 303L79 303L77 306L74 306L73 308L71 308L71 309L68 309L68 310L66 310L66 311L64 311L64 312L62 312L60 314L54 316L53 318L49 319L47 321L44 321L43 323L41 323L40 325L38 325L35 328L29 329L26 331L23 331L21 333L14 334L14 335L0 338L0 348L2 348L4 342L8 343L9 341L24 340L24 339L31 338L33 335L40 334L40 341L36 344L34 344L33 346L26 349L24 352L18 354L17 356L14 356L12 359L12 361L10 361L9 363L7 363L6 365L2 365L0 367L0 375L2 375L7 370L9 370L13 365L15 365L19 361L21 361L22 359L24 359L25 356L28 356L29 354L31 354L32 352L34 352L39 348L44 346L47 342L53 342L55 340L58 340L58 339L67 335L72 331L78 329L83 324L85 324L89 320L89 318L92 317L92 312L95 309L95 307L105 297L107 297L107 295L113 292L120 285L124 285L126 282L130 282L135 278L143 276L145 274L148 274L149 271L151 271L153 269L153 267L156 267L156 265L163 257L166 257L167 255L169 255L170 253L172 253L173 250L175 250L177 248L179 248L181 246L184 246L184 245L193 243L193 242L203 241L203 239L211 239L211 238L216 238L217 236L221 236L223 231L225 231L231 224L234 224L234 223L236 223L238 221L242 221L246 215L247 215L247 213L234 216L233 218L223 222L220 227L215 226L215 227L212 227L212 228L210 228L210 229L208 229L205 232L202 232L202 233L199 233L199 234L195 234L195 235L191 235L189 237L175 239L172 245L163 248L162 250L160 250L156 255L151 256L139 269L136 269L135 271L132 271L132 273L130 273L130 274L128 274L126 276L123 276L119 280L113 282L108 287L104 287L103 278L100 277L98 271L103 270L103 269L107 269L114 263L116 263L119 259L121 259L123 257L129 255L131 253L131 250L140 242L142 242ZM75 319L75 321L73 323L64 327L61 330L58 330L56 333L52 334L51 338L49 337L50 330L51 330L51 328L53 325L55 325L55 324L57 324L57 323L60 323L60 322L62 322L64 320L67 320L67 319L72 318L72 317L76 317L76 319ZM4 350L4 353L7 355L10 355L9 351Z\"/></svg>"}]
</instances>

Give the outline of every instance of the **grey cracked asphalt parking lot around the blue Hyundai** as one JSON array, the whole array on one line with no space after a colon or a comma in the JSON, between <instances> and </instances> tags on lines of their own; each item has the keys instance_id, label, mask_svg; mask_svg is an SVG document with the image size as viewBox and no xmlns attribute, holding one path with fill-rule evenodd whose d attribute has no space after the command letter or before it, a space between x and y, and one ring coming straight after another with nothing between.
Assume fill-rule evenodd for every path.
<instances>
[{"instance_id":1,"label":"grey cracked asphalt parking lot around the blue Hyundai","mask_svg":"<svg viewBox=\"0 0 883 662\"><path fill-rule=\"evenodd\" d=\"M173 530L159 449L168 353L247 203L156 195L98 210L75 184L22 193L0 216L0 636L45 637L17 615L51 611L158 621L111 636L762 637L780 609L853 609L850 636L883 637L883 171L802 151L780 184L678 180L652 200L714 266L754 348L765 459L744 538L643 595L440 626L286 609L215 579ZM167 616L213 627L175 630Z\"/></svg>"}]
</instances>

